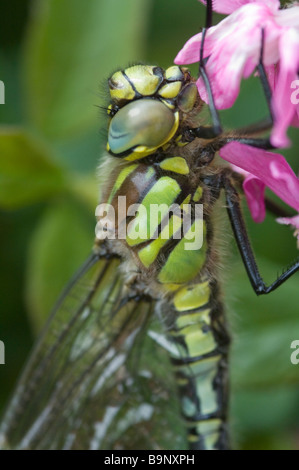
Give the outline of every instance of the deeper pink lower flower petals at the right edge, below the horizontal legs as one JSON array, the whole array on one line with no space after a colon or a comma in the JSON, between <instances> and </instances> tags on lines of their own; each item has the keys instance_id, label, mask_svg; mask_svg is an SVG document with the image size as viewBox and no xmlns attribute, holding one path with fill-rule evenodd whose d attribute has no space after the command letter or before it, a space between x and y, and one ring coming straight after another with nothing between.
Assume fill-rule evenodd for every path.
<instances>
[{"instance_id":1,"label":"deeper pink lower flower petals at the right edge, below the horizontal legs","mask_svg":"<svg viewBox=\"0 0 299 470\"><path fill-rule=\"evenodd\" d=\"M234 165L239 173L244 174L245 170L243 189L255 222L262 222L265 218L266 186L299 212L299 179L282 155L231 142L220 150L220 156ZM295 222L298 224L299 219Z\"/></svg>"}]
</instances>

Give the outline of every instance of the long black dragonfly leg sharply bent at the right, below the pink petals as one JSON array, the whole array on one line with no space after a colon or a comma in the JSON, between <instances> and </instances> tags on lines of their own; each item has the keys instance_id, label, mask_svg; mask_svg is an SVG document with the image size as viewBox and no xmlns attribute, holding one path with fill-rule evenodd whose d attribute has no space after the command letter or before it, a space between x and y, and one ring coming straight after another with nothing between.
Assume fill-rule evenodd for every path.
<instances>
[{"instance_id":1,"label":"long black dragonfly leg sharply bent at the right, below the pink petals","mask_svg":"<svg viewBox=\"0 0 299 470\"><path fill-rule=\"evenodd\" d=\"M249 241L247 229L240 206L237 190L227 178L224 179L227 211L235 235L235 239L246 268L251 285L257 295L269 294L283 284L289 277L299 270L299 259L288 267L272 284L266 286L255 261L253 250Z\"/></svg>"}]
</instances>

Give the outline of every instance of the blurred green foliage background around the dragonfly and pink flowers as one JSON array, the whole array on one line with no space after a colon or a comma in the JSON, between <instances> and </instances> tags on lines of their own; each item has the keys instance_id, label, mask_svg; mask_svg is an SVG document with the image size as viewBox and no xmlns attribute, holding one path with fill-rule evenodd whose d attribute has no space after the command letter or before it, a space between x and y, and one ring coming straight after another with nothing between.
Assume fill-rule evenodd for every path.
<instances>
[{"instance_id":1,"label":"blurred green foliage background around the dragonfly and pink flowers","mask_svg":"<svg viewBox=\"0 0 299 470\"><path fill-rule=\"evenodd\" d=\"M204 24L196 0L10 0L0 2L0 409L60 290L89 254L105 146L106 79L119 67L166 67ZM217 19L215 18L215 21ZM192 68L196 74L196 67ZM260 86L246 81L226 126L265 117ZM284 152L298 172L298 132ZM253 224L265 279L295 256L291 231L267 216ZM226 245L226 302L233 330L231 423L241 449L299 448L299 275L257 298Z\"/></svg>"}]
</instances>

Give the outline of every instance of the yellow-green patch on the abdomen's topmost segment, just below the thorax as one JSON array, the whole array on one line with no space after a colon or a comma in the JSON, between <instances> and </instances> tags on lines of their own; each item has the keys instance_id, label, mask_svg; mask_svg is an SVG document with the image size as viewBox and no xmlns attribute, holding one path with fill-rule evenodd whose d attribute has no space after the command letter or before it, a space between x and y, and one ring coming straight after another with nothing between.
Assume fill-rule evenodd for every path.
<instances>
[{"instance_id":1,"label":"yellow-green patch on the abdomen's topmost segment, just below the thorax","mask_svg":"<svg viewBox=\"0 0 299 470\"><path fill-rule=\"evenodd\" d=\"M179 312L192 310L207 304L210 297L209 282L183 287L174 296L173 303Z\"/></svg>"}]
</instances>

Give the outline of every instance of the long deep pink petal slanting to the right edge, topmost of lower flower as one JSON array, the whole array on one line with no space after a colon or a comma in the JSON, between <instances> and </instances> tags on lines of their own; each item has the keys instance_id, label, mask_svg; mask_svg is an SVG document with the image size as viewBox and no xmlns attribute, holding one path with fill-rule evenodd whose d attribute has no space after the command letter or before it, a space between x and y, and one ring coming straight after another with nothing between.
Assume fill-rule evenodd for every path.
<instances>
[{"instance_id":1,"label":"long deep pink petal slanting to the right edge, topmost of lower flower","mask_svg":"<svg viewBox=\"0 0 299 470\"><path fill-rule=\"evenodd\" d=\"M231 142L220 150L220 156L259 178L282 201L299 211L299 180L282 155Z\"/></svg>"}]
</instances>

